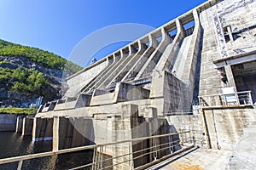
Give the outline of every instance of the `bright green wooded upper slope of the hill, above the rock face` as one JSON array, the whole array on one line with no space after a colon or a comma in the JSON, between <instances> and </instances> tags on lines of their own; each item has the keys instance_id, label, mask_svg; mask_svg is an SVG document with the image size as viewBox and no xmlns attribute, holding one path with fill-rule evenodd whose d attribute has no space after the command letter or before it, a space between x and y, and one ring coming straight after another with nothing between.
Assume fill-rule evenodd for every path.
<instances>
[{"instance_id":1,"label":"bright green wooded upper slope of the hill, above the rock face","mask_svg":"<svg viewBox=\"0 0 256 170\"><path fill-rule=\"evenodd\" d=\"M63 71L65 69L68 73L75 73L82 69L81 66L74 64L61 56L44 51L39 48L32 48L7 42L0 39L0 56L23 56L31 59L38 65L50 69L58 69Z\"/></svg>"}]
</instances>

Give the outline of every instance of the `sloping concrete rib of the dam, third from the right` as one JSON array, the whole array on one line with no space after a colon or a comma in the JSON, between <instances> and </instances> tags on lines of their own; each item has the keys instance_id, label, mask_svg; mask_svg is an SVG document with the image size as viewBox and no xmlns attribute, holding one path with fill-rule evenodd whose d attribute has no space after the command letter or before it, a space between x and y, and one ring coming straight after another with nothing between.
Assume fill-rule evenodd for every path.
<instances>
[{"instance_id":1,"label":"sloping concrete rib of the dam, third from the right","mask_svg":"<svg viewBox=\"0 0 256 170\"><path fill-rule=\"evenodd\" d=\"M160 42L159 46L154 50L154 53L151 54L145 65L143 65L143 68L139 73L137 74L136 80L142 77L144 74L150 73L153 71L155 65L158 63L161 54L165 50L166 46L171 42L171 37L169 36L168 32L165 31L165 29L162 27L160 29L162 41Z\"/></svg>"}]
</instances>

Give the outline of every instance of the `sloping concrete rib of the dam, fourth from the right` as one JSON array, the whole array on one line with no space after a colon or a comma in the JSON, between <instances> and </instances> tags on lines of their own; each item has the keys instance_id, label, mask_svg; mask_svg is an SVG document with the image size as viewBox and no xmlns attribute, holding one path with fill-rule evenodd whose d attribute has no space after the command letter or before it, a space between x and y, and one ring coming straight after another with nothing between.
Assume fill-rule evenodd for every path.
<instances>
[{"instance_id":1,"label":"sloping concrete rib of the dam, fourth from the right","mask_svg":"<svg viewBox=\"0 0 256 170\"><path fill-rule=\"evenodd\" d=\"M123 77L121 82L129 82L132 81L138 74L138 72L142 69L143 65L148 60L148 57L154 52L155 48L157 48L158 42L153 37L153 35L148 36L149 39L149 47L146 49L146 51L140 56L139 59L137 59L137 62L131 67L130 71L127 72L125 77Z\"/></svg>"}]
</instances>

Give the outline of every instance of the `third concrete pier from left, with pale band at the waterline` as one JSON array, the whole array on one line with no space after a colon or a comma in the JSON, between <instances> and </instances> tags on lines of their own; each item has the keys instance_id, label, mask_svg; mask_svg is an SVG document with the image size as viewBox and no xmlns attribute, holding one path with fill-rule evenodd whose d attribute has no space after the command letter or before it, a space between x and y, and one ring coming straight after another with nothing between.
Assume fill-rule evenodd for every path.
<instances>
[{"instance_id":1,"label":"third concrete pier from left, with pale band at the waterline","mask_svg":"<svg viewBox=\"0 0 256 170\"><path fill-rule=\"evenodd\" d=\"M33 118L32 141L45 141L53 139L53 119L52 118Z\"/></svg>"}]
</instances>

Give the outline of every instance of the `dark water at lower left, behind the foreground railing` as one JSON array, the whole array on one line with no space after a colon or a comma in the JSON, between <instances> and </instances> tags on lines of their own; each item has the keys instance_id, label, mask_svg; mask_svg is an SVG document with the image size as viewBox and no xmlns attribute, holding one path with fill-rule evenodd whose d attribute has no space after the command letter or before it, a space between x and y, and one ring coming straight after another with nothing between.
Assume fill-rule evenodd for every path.
<instances>
[{"instance_id":1,"label":"dark water at lower left, behind the foreground railing","mask_svg":"<svg viewBox=\"0 0 256 170\"><path fill-rule=\"evenodd\" d=\"M39 141L32 144L31 136L21 136L20 133L0 132L0 159L11 156L23 156L52 150L52 141ZM91 161L92 151L80 151L60 156L47 156L23 161L22 169L32 170L62 170L79 167ZM0 165L0 170L12 170L18 167L18 162Z\"/></svg>"}]
</instances>

